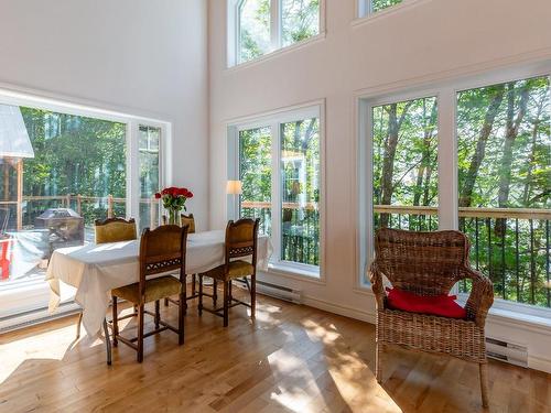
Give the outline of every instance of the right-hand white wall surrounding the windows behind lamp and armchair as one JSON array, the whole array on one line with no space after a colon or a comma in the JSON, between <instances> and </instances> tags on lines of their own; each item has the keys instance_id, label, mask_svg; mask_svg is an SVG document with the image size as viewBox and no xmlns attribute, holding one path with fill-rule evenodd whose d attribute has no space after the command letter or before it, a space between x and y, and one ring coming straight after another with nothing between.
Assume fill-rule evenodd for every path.
<instances>
[{"instance_id":1,"label":"right-hand white wall surrounding the windows behind lamp and armchair","mask_svg":"<svg viewBox=\"0 0 551 413\"><path fill-rule=\"evenodd\" d=\"M226 124L278 108L326 99L326 280L266 275L303 291L306 303L374 319L369 293L356 289L355 96L412 87L551 58L549 0L419 0L396 12L355 19L354 0L326 1L326 37L252 65L226 69L226 1L209 1L210 224L226 220ZM514 330L489 325L496 336ZM521 337L522 338L522 337ZM536 338L534 338L536 340ZM534 357L551 371L541 337ZM551 348L548 336L547 348Z\"/></svg>"}]
</instances>

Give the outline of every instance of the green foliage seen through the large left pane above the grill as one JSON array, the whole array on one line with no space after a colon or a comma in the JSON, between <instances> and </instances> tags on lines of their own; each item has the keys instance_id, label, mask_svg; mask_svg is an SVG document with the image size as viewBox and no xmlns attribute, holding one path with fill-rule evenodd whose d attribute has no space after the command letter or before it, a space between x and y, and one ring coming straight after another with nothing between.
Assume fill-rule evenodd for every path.
<instances>
[{"instance_id":1,"label":"green foliage seen through the large left pane above the grill","mask_svg":"<svg viewBox=\"0 0 551 413\"><path fill-rule=\"evenodd\" d=\"M126 124L20 109L35 154L24 161L25 196L126 197ZM36 215L54 206L58 202L29 202L23 224L33 225ZM83 205L86 222L106 216L106 207L105 202Z\"/></svg>"}]
</instances>

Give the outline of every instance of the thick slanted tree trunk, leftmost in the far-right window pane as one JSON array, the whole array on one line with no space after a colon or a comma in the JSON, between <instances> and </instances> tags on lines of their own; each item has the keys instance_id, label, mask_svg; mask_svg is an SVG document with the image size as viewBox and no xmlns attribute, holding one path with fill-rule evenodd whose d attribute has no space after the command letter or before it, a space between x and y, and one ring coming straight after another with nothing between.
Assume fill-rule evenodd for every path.
<instances>
[{"instance_id":1,"label":"thick slanted tree trunk, leftmost in the far-right window pane","mask_svg":"<svg viewBox=\"0 0 551 413\"><path fill-rule=\"evenodd\" d=\"M484 124L480 129L480 134L478 135L478 141L476 142L475 153L471 159L471 164L468 166L467 175L465 177L461 194L460 194L460 207L469 207L473 197L473 189L475 187L476 178L478 176L478 170L486 156L486 144L488 142L489 134L494 128L494 121L499 111L499 106L504 100L505 87L504 85L496 86L496 93L491 98L491 101L486 110L486 116L484 118Z\"/></svg>"}]
</instances>

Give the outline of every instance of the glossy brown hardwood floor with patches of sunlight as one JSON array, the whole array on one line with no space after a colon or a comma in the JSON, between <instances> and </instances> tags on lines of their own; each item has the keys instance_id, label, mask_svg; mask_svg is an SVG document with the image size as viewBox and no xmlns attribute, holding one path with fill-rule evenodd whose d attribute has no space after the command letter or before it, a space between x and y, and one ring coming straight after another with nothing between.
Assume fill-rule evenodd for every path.
<instances>
[{"instance_id":1,"label":"glossy brown hardwood floor with patches of sunlight","mask_svg":"<svg viewBox=\"0 0 551 413\"><path fill-rule=\"evenodd\" d=\"M393 349L381 387L374 326L263 296L257 314L236 307L225 329L191 305L185 345L150 337L142 365L119 345L107 367L100 339L75 340L76 316L6 334L0 412L484 411L475 365ZM491 361L489 388L491 412L551 412L548 374Z\"/></svg>"}]
</instances>

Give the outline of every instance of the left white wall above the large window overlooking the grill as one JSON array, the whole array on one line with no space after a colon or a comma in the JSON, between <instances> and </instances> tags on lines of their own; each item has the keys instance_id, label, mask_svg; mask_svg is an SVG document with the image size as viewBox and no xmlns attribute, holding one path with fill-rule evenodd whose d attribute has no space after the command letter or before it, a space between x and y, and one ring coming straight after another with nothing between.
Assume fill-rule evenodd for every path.
<instances>
[{"instance_id":1,"label":"left white wall above the large window overlooking the grill","mask_svg":"<svg viewBox=\"0 0 551 413\"><path fill-rule=\"evenodd\" d=\"M0 0L0 87L173 122L174 184L208 227L204 0Z\"/></svg>"}]
</instances>

